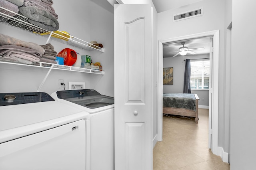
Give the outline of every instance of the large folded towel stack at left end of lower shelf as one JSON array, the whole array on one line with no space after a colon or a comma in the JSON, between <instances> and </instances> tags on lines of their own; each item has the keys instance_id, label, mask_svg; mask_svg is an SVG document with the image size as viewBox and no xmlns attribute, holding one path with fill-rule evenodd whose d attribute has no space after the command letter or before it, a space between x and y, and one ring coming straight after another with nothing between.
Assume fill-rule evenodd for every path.
<instances>
[{"instance_id":1,"label":"large folded towel stack at left end of lower shelf","mask_svg":"<svg viewBox=\"0 0 256 170\"><path fill-rule=\"evenodd\" d=\"M0 34L0 57L5 57L10 61L32 64L34 61L40 61L40 58L44 53L44 48L36 43L24 42Z\"/></svg>"}]
</instances>

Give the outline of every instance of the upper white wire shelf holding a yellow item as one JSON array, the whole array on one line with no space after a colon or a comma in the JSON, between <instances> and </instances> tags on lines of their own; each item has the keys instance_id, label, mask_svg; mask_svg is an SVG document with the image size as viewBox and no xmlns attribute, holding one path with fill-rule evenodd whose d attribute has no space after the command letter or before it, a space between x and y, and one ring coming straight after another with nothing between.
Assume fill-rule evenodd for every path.
<instances>
[{"instance_id":1,"label":"upper white wire shelf holding a yellow item","mask_svg":"<svg viewBox=\"0 0 256 170\"><path fill-rule=\"evenodd\" d=\"M38 26L35 26L29 23L28 18L26 18L25 16L12 12L1 6L0 6L0 22L28 31L28 32L32 32L34 34L44 36L48 38L46 43L48 43L48 41L52 39L64 44L72 45L74 47L79 47L81 49L86 49L90 51L98 50L98 51L104 52L105 50L104 48L97 47L91 43L88 43L84 40L76 38L68 34L67 32L61 32L61 31L50 32L50 31L44 30Z\"/></svg>"}]
</instances>

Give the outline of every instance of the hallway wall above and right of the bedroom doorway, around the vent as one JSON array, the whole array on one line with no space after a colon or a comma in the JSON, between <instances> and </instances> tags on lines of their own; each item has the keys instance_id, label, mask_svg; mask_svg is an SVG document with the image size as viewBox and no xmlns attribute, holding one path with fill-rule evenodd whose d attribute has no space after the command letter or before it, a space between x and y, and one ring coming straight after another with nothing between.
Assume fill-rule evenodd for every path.
<instances>
[{"instance_id":1,"label":"hallway wall above and right of the bedroom doorway, around the vent","mask_svg":"<svg viewBox=\"0 0 256 170\"><path fill-rule=\"evenodd\" d=\"M203 0L191 5L183 6L166 12L158 13L158 40L165 40L220 30L219 39L219 109L218 109L218 146L224 147L223 131L224 131L224 7L223 0ZM203 7L203 15L172 22L172 16L182 12L194 10ZM174 70L175 71L175 70ZM226 70L225 70L226 71ZM175 79L174 79L175 81ZM228 152L229 148L224 148L224 152Z\"/></svg>"}]
</instances>

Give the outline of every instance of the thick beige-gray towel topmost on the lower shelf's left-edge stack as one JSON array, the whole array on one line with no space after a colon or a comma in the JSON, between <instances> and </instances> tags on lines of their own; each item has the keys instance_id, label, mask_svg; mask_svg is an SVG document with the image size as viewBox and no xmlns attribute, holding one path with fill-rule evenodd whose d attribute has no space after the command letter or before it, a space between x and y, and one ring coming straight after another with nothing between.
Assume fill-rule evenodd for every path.
<instances>
[{"instance_id":1,"label":"thick beige-gray towel topmost on the lower shelf's left-edge stack","mask_svg":"<svg viewBox=\"0 0 256 170\"><path fill-rule=\"evenodd\" d=\"M22 40L6 36L4 34L0 34L0 45L17 45L21 47L27 47L30 49L34 49L34 51L41 53L41 55L45 52L44 48L36 43L24 42Z\"/></svg>"}]
</instances>

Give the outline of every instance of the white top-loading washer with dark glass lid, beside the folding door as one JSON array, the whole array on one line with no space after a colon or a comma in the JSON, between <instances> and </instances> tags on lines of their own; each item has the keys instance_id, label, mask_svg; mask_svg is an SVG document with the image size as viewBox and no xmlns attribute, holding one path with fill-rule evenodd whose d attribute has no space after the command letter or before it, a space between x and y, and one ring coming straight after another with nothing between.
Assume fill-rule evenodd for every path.
<instances>
[{"instance_id":1,"label":"white top-loading washer with dark glass lid, beside the folding door","mask_svg":"<svg viewBox=\"0 0 256 170\"><path fill-rule=\"evenodd\" d=\"M94 89L56 91L51 96L90 113L90 170L114 170L114 97Z\"/></svg>"}]
</instances>

